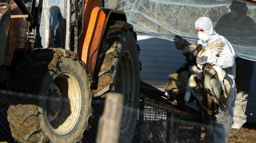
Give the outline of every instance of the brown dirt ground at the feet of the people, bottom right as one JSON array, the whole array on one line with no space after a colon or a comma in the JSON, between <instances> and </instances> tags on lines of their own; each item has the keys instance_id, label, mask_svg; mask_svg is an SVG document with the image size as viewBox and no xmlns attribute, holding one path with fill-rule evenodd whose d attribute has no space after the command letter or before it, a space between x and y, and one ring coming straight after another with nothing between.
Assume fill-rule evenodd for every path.
<instances>
[{"instance_id":1,"label":"brown dirt ground at the feet of the people, bottom right","mask_svg":"<svg viewBox=\"0 0 256 143\"><path fill-rule=\"evenodd\" d=\"M244 126L241 129L232 129L228 142L229 143L255 143L256 142L256 129L255 127L246 127ZM204 143L204 128L202 128L201 141L200 143Z\"/></svg>"}]
</instances>

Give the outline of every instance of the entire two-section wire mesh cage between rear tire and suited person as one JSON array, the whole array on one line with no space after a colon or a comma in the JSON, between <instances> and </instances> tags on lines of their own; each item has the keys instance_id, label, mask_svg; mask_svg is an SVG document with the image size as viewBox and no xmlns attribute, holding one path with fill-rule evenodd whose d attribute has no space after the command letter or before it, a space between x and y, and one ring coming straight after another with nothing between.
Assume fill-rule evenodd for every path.
<instances>
[{"instance_id":1,"label":"entire two-section wire mesh cage between rear tire and suited person","mask_svg":"<svg viewBox=\"0 0 256 143\"><path fill-rule=\"evenodd\" d=\"M138 123L133 142L194 143L200 142L200 113L176 108L141 96Z\"/></svg>"}]
</instances>

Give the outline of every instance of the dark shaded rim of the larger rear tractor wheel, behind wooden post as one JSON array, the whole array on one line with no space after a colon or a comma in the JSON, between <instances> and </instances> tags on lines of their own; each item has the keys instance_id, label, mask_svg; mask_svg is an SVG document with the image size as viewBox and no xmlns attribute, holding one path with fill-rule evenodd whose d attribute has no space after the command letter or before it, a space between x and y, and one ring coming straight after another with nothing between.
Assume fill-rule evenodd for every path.
<instances>
[{"instance_id":1,"label":"dark shaded rim of the larger rear tractor wheel, behind wooden post","mask_svg":"<svg viewBox=\"0 0 256 143\"><path fill-rule=\"evenodd\" d=\"M135 71L131 53L125 51L117 71L116 92L124 95L123 114L120 131L126 132L131 122L133 101L135 96Z\"/></svg>"}]
</instances>

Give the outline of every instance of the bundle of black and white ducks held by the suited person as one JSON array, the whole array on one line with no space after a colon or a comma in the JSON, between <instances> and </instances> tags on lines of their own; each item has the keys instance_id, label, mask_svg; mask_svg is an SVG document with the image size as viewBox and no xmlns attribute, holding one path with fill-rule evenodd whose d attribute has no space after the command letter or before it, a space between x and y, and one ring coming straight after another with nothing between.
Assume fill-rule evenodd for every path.
<instances>
[{"instance_id":1,"label":"bundle of black and white ducks held by the suited person","mask_svg":"<svg viewBox=\"0 0 256 143\"><path fill-rule=\"evenodd\" d=\"M169 75L170 79L165 87L169 99L178 97L178 104L185 107L195 100L199 111L205 110L210 115L217 111L220 104L226 107L224 103L231 86L225 79L225 71L216 65L196 63L196 58L199 57L218 57L223 49L223 41L217 39L203 48L201 44L190 44L176 35L174 42L178 50L183 50L186 62Z\"/></svg>"}]
</instances>

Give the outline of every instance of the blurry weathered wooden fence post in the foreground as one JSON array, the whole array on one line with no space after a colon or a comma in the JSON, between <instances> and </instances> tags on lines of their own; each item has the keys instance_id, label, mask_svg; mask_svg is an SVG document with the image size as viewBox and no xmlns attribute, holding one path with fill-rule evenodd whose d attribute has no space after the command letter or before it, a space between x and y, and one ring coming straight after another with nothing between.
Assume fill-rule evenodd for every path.
<instances>
[{"instance_id":1,"label":"blurry weathered wooden fence post in the foreground","mask_svg":"<svg viewBox=\"0 0 256 143\"><path fill-rule=\"evenodd\" d=\"M110 93L99 119L96 143L118 143L123 112L123 95Z\"/></svg>"}]
</instances>

